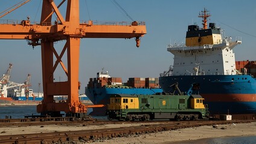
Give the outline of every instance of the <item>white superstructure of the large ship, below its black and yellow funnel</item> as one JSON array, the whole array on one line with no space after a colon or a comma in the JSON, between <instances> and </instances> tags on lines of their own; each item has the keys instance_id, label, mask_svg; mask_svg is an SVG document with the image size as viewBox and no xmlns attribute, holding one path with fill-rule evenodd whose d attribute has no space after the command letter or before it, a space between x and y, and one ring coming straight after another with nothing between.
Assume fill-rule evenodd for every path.
<instances>
[{"instance_id":1,"label":"white superstructure of the large ship, below its black and yellow funnel","mask_svg":"<svg viewBox=\"0 0 256 144\"><path fill-rule=\"evenodd\" d=\"M167 46L168 52L173 53L173 76L181 75L234 75L235 55L233 48L242 43L241 38L218 40L214 44L202 46ZM220 43L219 43L220 42Z\"/></svg>"}]
</instances>

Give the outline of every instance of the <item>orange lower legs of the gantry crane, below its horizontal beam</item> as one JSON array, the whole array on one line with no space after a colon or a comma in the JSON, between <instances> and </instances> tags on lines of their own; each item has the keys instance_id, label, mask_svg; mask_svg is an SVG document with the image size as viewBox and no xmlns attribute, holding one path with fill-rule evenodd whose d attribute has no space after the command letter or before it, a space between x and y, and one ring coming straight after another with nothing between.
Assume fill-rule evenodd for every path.
<instances>
[{"instance_id":1,"label":"orange lower legs of the gantry crane, below its horizontal beam","mask_svg":"<svg viewBox=\"0 0 256 144\"><path fill-rule=\"evenodd\" d=\"M87 112L86 106L78 99L78 67L79 67L79 47L80 38L67 38L63 49L66 49L68 57L68 70L63 70L68 76L66 82L54 82L53 55L54 47L52 42L42 42L42 71L43 71L43 101L37 106L37 112L42 115L60 116L60 112L84 113ZM62 62L59 56L57 61ZM63 64L62 64L63 65ZM65 103L56 103L54 95L68 95Z\"/></svg>"}]
</instances>

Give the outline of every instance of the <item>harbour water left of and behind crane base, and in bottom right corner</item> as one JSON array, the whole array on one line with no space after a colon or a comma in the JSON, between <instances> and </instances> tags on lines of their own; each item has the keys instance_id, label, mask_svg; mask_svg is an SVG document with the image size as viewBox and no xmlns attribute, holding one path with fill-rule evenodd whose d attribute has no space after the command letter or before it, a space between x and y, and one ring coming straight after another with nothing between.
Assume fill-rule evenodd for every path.
<instances>
[{"instance_id":1,"label":"harbour water left of and behind crane base, and in bottom right corner","mask_svg":"<svg viewBox=\"0 0 256 144\"><path fill-rule=\"evenodd\" d=\"M88 109L88 113L92 109ZM39 115L36 112L36 106L0 106L0 119L8 118L24 118L25 115ZM93 116L94 118L103 119L104 116ZM252 144L256 142L256 136L241 137L219 137L214 139L190 140L188 142L177 142L177 144Z\"/></svg>"}]
</instances>

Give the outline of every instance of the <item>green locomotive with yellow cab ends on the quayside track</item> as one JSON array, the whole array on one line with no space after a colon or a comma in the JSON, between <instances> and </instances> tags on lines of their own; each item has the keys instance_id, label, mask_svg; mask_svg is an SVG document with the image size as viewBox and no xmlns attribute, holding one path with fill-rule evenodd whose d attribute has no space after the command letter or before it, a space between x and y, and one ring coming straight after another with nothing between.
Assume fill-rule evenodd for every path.
<instances>
[{"instance_id":1,"label":"green locomotive with yellow cab ends on the quayside track","mask_svg":"<svg viewBox=\"0 0 256 144\"><path fill-rule=\"evenodd\" d=\"M147 121L149 119L197 120L209 112L200 95L110 95L109 119Z\"/></svg>"}]
</instances>

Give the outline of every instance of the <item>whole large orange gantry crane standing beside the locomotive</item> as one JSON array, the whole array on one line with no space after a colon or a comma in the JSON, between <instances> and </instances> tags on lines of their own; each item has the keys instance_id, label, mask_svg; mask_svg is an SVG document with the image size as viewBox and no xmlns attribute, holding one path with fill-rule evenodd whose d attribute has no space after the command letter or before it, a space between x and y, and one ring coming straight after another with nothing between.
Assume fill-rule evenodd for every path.
<instances>
[{"instance_id":1,"label":"whole large orange gantry crane standing beside the locomotive","mask_svg":"<svg viewBox=\"0 0 256 144\"><path fill-rule=\"evenodd\" d=\"M67 2L66 18L59 11L64 2ZM54 13L58 20L53 22ZM111 25L95 25L92 21L80 23L78 0L63 0L58 6L53 0L43 0L40 23L30 23L29 19L20 23L8 22L0 24L0 39L27 40L33 47L41 46L43 101L37 106L37 112L50 116L60 116L60 112L71 116L84 115L87 112L87 106L78 99L81 38L135 38L138 47L139 38L146 34L144 22L120 22ZM54 48L56 41L66 41L60 55ZM67 67L62 62L65 52ZM65 82L54 82L54 71L59 64L68 77ZM68 99L64 103L56 103L54 95L68 95Z\"/></svg>"}]
</instances>

